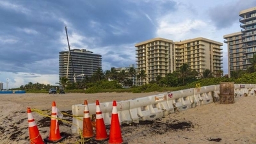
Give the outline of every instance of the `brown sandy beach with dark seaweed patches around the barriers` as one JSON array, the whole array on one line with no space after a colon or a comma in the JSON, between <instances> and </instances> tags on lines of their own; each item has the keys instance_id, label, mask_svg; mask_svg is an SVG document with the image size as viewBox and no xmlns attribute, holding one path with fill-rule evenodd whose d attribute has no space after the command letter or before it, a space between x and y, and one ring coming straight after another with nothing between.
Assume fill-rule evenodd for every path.
<instances>
[{"instance_id":1,"label":"brown sandy beach with dark seaweed patches around the barriers","mask_svg":"<svg viewBox=\"0 0 256 144\"><path fill-rule=\"evenodd\" d=\"M163 92L162 92L163 93ZM47 93L0 95L0 143L29 143L26 109L51 111L52 101L64 113L71 113L73 104L128 100L159 93ZM153 122L122 125L122 138L127 143L256 143L256 97L240 97L234 104L219 102L180 111ZM51 118L33 112L42 138L49 136ZM72 122L72 117L63 119ZM67 138L61 143L79 143L71 124L60 123L61 134ZM107 128L109 132L109 129ZM89 143L89 142L88 142Z\"/></svg>"}]
</instances>

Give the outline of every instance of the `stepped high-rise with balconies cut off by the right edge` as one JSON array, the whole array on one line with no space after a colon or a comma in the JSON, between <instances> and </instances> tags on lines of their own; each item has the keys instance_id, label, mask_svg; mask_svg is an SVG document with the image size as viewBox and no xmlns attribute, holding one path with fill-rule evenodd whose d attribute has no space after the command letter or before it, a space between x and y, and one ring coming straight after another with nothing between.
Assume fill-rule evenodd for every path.
<instances>
[{"instance_id":1,"label":"stepped high-rise with balconies cut off by the right edge","mask_svg":"<svg viewBox=\"0 0 256 144\"><path fill-rule=\"evenodd\" d=\"M239 16L241 32L223 36L228 44L229 74L234 70L246 70L256 53L256 7L242 10Z\"/></svg>"}]
</instances>

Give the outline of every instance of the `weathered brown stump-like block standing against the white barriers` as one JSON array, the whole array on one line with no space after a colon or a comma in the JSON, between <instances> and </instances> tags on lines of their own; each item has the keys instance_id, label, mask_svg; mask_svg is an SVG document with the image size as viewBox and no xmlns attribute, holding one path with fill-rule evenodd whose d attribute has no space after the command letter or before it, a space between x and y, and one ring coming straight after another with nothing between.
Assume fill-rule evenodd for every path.
<instances>
[{"instance_id":1,"label":"weathered brown stump-like block standing against the white barriers","mask_svg":"<svg viewBox=\"0 0 256 144\"><path fill-rule=\"evenodd\" d=\"M221 82L220 83L220 104L234 104L234 82Z\"/></svg>"}]
</instances>

